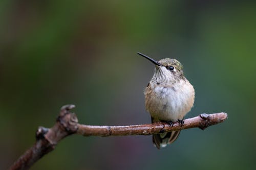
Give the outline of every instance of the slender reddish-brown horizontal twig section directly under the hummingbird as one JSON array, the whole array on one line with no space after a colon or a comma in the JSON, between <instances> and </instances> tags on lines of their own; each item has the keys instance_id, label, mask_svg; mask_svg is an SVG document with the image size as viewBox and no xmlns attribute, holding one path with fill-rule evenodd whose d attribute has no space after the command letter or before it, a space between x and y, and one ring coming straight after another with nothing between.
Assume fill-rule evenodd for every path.
<instances>
[{"instance_id":1,"label":"slender reddish-brown horizontal twig section directly under the hummingbird","mask_svg":"<svg viewBox=\"0 0 256 170\"><path fill-rule=\"evenodd\" d=\"M167 123L157 122L153 124L131 126L90 126L78 124L76 134L83 136L127 136L127 135L153 135L188 128L200 128L204 130L208 126L224 122L227 113L200 114L199 116L184 120L181 127L179 123L170 126Z\"/></svg>"}]
</instances>

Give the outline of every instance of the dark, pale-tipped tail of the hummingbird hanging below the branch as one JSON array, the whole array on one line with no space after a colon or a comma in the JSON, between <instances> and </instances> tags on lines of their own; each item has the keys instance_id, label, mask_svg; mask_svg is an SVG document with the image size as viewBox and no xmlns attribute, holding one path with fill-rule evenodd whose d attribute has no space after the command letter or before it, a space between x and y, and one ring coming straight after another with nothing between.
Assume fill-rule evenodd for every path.
<instances>
[{"instance_id":1,"label":"dark, pale-tipped tail of the hummingbird hanging below the branch","mask_svg":"<svg viewBox=\"0 0 256 170\"><path fill-rule=\"evenodd\" d=\"M164 148L167 144L173 143L178 138L179 134L180 131L155 134L153 135L153 143L157 147L157 149Z\"/></svg>"}]
</instances>

